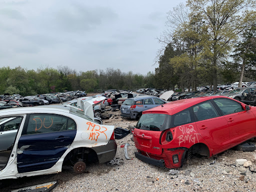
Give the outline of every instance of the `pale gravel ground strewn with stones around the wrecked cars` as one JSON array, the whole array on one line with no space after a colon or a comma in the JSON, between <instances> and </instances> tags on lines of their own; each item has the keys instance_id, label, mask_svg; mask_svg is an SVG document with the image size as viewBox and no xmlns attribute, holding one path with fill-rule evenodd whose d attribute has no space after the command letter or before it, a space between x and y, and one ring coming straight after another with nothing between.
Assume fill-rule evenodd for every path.
<instances>
[{"instance_id":1,"label":"pale gravel ground strewn with stones around the wrecked cars","mask_svg":"<svg viewBox=\"0 0 256 192\"><path fill-rule=\"evenodd\" d=\"M103 124L115 127L135 125L136 120L120 117L120 111L112 113L112 119L103 120ZM136 148L131 134L117 140L116 158L123 159L120 165L89 164L84 173L76 174L63 170L58 174L6 179L0 191L12 188L58 180L53 192L60 191L256 191L256 172L243 165L237 165L235 159L251 160L251 169L256 170L256 152L227 150L211 158L192 156L189 163L177 169L178 173L169 173L168 168L160 168L142 162L134 157ZM129 143L126 160L120 145ZM243 178L244 176L244 178Z\"/></svg>"}]
</instances>

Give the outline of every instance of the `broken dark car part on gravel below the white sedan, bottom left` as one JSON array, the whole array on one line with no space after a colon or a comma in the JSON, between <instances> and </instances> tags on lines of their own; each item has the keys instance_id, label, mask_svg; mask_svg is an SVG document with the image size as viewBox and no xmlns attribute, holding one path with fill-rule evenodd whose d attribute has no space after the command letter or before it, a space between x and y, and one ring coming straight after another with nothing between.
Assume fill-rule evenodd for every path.
<instances>
[{"instance_id":1,"label":"broken dark car part on gravel below the white sedan, bottom left","mask_svg":"<svg viewBox=\"0 0 256 192\"><path fill-rule=\"evenodd\" d=\"M57 181L45 182L42 184L36 184L32 186L26 186L11 190L11 192L48 192L57 185Z\"/></svg>"}]
</instances>

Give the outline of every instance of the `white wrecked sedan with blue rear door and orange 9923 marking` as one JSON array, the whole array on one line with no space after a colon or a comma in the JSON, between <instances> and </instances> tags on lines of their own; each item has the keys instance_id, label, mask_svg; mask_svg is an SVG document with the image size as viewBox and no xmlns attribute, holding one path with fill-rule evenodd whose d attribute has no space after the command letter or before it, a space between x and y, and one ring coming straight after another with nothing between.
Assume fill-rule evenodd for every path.
<instances>
[{"instance_id":1,"label":"white wrecked sedan with blue rear door and orange 9923 marking","mask_svg":"<svg viewBox=\"0 0 256 192\"><path fill-rule=\"evenodd\" d=\"M80 173L90 161L103 163L115 156L114 126L97 124L68 108L0 110L0 179L57 173L62 168Z\"/></svg>"}]
</instances>

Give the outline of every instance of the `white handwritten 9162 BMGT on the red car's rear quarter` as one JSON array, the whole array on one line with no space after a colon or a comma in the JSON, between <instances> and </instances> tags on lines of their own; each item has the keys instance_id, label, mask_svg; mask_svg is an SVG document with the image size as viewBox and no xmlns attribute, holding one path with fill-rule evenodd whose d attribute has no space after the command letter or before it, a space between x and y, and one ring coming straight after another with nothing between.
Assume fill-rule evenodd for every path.
<instances>
[{"instance_id":1,"label":"white handwritten 9162 BMGT on the red car's rear quarter","mask_svg":"<svg viewBox=\"0 0 256 192\"><path fill-rule=\"evenodd\" d=\"M196 141L199 142L198 140L198 134L195 130L194 130L194 127L193 125L189 125L188 127L186 126L179 126L178 127L180 131L182 131L182 134L178 136L178 145L180 145L182 142L186 142L188 141L189 143L190 142L193 142L195 143Z\"/></svg>"}]
</instances>

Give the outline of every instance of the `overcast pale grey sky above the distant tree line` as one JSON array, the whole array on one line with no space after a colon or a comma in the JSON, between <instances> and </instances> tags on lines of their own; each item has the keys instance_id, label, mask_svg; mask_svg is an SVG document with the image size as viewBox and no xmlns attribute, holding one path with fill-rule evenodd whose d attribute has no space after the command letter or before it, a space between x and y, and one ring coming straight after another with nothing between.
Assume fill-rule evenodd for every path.
<instances>
[{"instance_id":1,"label":"overcast pale grey sky above the distant tree line","mask_svg":"<svg viewBox=\"0 0 256 192\"><path fill-rule=\"evenodd\" d=\"M154 71L166 12L185 0L0 0L0 67Z\"/></svg>"}]
</instances>

